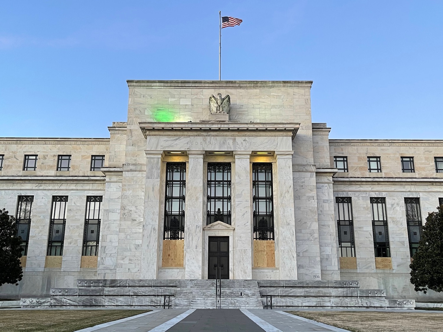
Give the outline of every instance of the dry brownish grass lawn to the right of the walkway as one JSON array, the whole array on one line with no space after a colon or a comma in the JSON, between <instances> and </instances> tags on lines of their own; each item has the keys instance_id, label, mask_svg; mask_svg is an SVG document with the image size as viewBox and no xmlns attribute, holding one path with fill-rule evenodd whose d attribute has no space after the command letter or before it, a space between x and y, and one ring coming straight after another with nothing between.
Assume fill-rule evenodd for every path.
<instances>
[{"instance_id":1,"label":"dry brownish grass lawn to the right of the walkway","mask_svg":"<svg viewBox=\"0 0 443 332\"><path fill-rule=\"evenodd\" d=\"M406 311L406 310L405 310ZM356 311L288 311L288 313L353 332L442 332L443 314Z\"/></svg>"}]
</instances>

